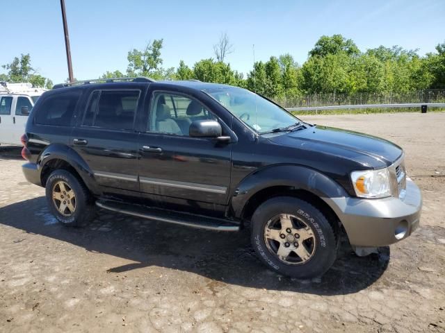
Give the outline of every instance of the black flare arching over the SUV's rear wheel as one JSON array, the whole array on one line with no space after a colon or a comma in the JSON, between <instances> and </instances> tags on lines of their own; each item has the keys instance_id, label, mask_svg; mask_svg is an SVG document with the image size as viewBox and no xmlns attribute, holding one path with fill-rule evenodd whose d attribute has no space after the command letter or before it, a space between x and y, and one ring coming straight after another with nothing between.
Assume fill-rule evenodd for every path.
<instances>
[{"instance_id":1,"label":"black flare arching over the SUV's rear wheel","mask_svg":"<svg viewBox=\"0 0 445 333\"><path fill-rule=\"evenodd\" d=\"M88 164L83 160L81 155L74 151L74 149L65 144L50 144L44 148L38 157L37 164L39 165L40 170L43 170L44 166L51 160L63 160L64 162L67 162L67 164L70 164L93 194L101 194L94 173L92 173Z\"/></svg>"}]
</instances>

